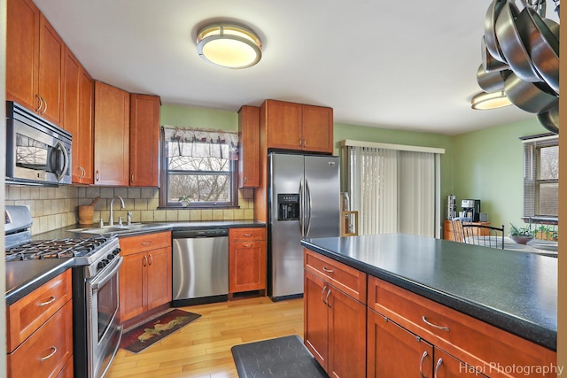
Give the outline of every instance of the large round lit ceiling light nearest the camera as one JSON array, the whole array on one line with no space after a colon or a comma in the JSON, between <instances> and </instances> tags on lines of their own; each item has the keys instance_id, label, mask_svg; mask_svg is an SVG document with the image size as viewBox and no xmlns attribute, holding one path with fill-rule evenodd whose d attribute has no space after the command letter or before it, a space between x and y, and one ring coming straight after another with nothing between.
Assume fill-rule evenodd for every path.
<instances>
[{"instance_id":1,"label":"large round lit ceiling light nearest the camera","mask_svg":"<svg viewBox=\"0 0 567 378\"><path fill-rule=\"evenodd\" d=\"M261 42L252 30L237 25L214 24L199 30L198 55L228 68L254 66L262 56Z\"/></svg>"}]
</instances>

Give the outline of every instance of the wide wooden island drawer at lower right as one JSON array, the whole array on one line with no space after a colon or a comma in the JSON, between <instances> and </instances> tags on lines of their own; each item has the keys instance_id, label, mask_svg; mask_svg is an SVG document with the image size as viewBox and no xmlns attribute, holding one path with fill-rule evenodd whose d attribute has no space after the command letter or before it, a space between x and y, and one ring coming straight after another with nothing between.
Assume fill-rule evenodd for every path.
<instances>
[{"instance_id":1,"label":"wide wooden island drawer at lower right","mask_svg":"<svg viewBox=\"0 0 567 378\"><path fill-rule=\"evenodd\" d=\"M369 308L490 376L509 376L500 366L555 365L555 352L406 289L369 277ZM542 375L531 375L542 376Z\"/></svg>"}]
</instances>

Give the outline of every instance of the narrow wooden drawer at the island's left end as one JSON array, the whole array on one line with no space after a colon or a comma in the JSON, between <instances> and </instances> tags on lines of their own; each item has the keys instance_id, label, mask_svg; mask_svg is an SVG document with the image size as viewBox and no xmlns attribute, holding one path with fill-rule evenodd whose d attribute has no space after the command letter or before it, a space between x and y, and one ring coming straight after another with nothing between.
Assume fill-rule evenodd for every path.
<instances>
[{"instance_id":1,"label":"narrow wooden drawer at the island's left end","mask_svg":"<svg viewBox=\"0 0 567 378\"><path fill-rule=\"evenodd\" d=\"M304 266L307 271L332 283L361 303L366 303L366 274L313 251L304 251Z\"/></svg>"}]
</instances>

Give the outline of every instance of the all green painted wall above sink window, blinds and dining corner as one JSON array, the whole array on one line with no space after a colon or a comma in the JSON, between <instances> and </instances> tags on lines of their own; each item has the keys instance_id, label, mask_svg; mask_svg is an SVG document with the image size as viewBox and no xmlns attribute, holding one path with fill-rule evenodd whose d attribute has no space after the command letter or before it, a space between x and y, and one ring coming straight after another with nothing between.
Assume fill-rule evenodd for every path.
<instances>
[{"instance_id":1,"label":"all green painted wall above sink window, blinds and dining corner","mask_svg":"<svg viewBox=\"0 0 567 378\"><path fill-rule=\"evenodd\" d=\"M237 131L238 114L162 105L161 124ZM480 199L488 220L509 229L510 222L520 223L524 202L524 146L518 138L545 131L535 117L456 136L336 123L334 153L341 156L340 141L344 139L445 149L441 157L442 217L447 216L446 198L453 194L458 209L462 199Z\"/></svg>"}]
</instances>

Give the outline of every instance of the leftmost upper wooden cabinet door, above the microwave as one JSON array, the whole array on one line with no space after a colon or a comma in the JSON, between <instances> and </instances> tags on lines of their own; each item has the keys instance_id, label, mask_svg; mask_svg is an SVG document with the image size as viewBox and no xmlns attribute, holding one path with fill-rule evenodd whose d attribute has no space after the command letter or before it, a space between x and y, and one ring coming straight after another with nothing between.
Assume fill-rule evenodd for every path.
<instances>
[{"instance_id":1,"label":"leftmost upper wooden cabinet door, above the microwave","mask_svg":"<svg viewBox=\"0 0 567 378\"><path fill-rule=\"evenodd\" d=\"M6 11L6 99L35 111L40 12L31 0L8 0Z\"/></svg>"}]
</instances>

